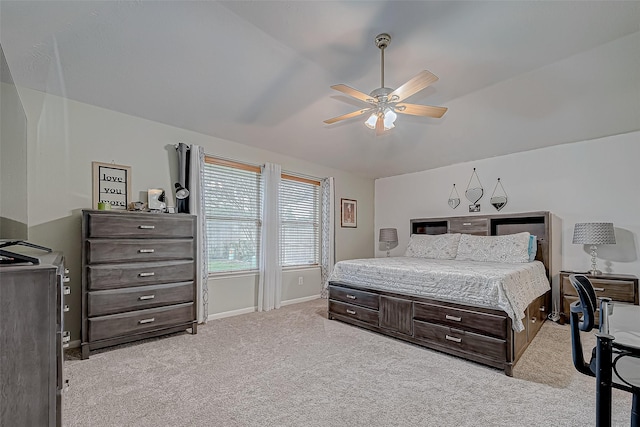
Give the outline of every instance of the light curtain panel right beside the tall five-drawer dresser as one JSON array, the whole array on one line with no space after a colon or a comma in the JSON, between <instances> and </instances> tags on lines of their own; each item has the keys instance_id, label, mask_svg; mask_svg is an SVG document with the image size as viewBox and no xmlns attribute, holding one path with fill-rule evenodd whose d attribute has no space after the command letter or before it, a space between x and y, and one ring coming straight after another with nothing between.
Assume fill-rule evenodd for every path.
<instances>
[{"instance_id":1,"label":"light curtain panel right beside the tall five-drawer dresser","mask_svg":"<svg viewBox=\"0 0 640 427\"><path fill-rule=\"evenodd\" d=\"M189 212L196 215L196 281L197 281L197 306L196 314L198 322L207 323L209 315L209 287L207 279L209 269L207 260L207 230L204 210L204 149L199 145L191 145L189 149L189 162L187 170L189 175Z\"/></svg>"}]
</instances>

